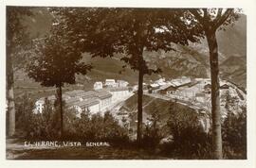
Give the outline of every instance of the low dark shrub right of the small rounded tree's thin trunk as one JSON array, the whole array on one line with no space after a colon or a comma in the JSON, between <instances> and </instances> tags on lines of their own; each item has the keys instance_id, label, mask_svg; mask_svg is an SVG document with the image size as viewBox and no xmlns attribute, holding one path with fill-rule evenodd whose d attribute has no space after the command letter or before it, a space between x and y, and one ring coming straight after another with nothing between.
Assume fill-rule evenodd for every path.
<instances>
[{"instance_id":1,"label":"low dark shrub right of the small rounded tree's thin trunk","mask_svg":"<svg viewBox=\"0 0 256 168\"><path fill-rule=\"evenodd\" d=\"M74 129L74 127L76 128ZM111 143L128 141L128 130L119 126L118 121L109 111L105 112L103 116L101 113L91 115L89 111L82 111L81 118L73 120L73 124L68 127L67 132L69 137L86 141Z\"/></svg>"}]
</instances>

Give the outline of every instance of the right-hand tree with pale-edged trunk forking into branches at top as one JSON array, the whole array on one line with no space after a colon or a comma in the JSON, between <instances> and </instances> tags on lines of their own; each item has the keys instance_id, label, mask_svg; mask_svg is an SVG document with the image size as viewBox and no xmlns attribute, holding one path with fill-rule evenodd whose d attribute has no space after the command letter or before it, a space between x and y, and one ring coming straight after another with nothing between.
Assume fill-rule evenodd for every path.
<instances>
[{"instance_id":1,"label":"right-hand tree with pale-edged trunk forking into branches at top","mask_svg":"<svg viewBox=\"0 0 256 168\"><path fill-rule=\"evenodd\" d=\"M211 118L212 118L212 140L213 156L222 159L222 137L221 137L221 111L220 111L220 82L219 82L219 60L218 43L216 31L225 28L238 18L233 8L192 8L192 15L202 26L210 52L210 79L211 79Z\"/></svg>"}]
</instances>

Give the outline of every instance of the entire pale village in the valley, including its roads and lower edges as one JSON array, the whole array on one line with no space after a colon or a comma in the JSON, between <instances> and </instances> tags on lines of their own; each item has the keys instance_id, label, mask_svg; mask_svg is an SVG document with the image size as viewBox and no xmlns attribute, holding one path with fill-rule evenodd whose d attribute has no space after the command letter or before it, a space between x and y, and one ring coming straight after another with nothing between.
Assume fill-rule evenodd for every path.
<instances>
[{"instance_id":1,"label":"entire pale village in the valley, including its roads and lower edges","mask_svg":"<svg viewBox=\"0 0 256 168\"><path fill-rule=\"evenodd\" d=\"M221 110L222 117L227 115L226 96L229 92L230 97L236 100L235 106L230 108L234 111L242 111L241 107L246 105L246 93L238 89L234 84L226 80L220 82L221 94ZM75 109L77 117L81 117L83 110L89 111L90 114L100 113L103 115L106 111L110 111L118 120L120 126L127 126L130 129L131 113L121 109L124 102L137 93L137 85L130 85L124 80L105 79L104 82L96 81L93 85L93 90L83 91L74 90L64 92L64 104L68 109ZM210 114L210 78L191 78L181 76L166 80L161 77L150 83L143 83L143 94L154 98L175 101L176 103L188 106L201 114ZM42 113L46 99L54 103L55 95L42 97L35 102L34 113ZM143 115L148 116L145 112ZM125 122L123 122L125 121ZM210 128L210 119L202 120L202 126L205 131ZM143 123L150 125L147 117L144 117Z\"/></svg>"}]
</instances>

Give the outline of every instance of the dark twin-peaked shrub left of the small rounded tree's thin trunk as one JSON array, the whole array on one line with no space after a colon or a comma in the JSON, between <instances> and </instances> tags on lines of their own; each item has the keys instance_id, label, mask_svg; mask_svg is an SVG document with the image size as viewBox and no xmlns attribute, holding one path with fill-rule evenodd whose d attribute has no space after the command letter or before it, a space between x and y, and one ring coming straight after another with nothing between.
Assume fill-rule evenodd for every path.
<instances>
[{"instance_id":1,"label":"dark twin-peaked shrub left of the small rounded tree's thin trunk","mask_svg":"<svg viewBox=\"0 0 256 168\"><path fill-rule=\"evenodd\" d=\"M55 111L46 99L42 113L34 113L34 102L27 94L22 101L16 105L17 128L22 130L28 139L52 139L58 138L59 134L59 114Z\"/></svg>"}]
</instances>

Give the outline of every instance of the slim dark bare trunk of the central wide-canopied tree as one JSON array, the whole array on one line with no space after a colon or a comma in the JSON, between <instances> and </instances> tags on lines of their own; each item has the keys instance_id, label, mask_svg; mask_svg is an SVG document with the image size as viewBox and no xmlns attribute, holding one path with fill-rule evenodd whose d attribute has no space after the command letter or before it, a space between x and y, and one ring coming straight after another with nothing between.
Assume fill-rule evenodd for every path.
<instances>
[{"instance_id":1,"label":"slim dark bare trunk of the central wide-canopied tree","mask_svg":"<svg viewBox=\"0 0 256 168\"><path fill-rule=\"evenodd\" d=\"M140 56L139 56L140 57ZM141 67L141 58L139 59L138 70L138 88L137 88L137 145L141 145L142 139L142 96L143 96L143 69Z\"/></svg>"}]
</instances>

